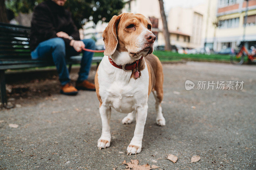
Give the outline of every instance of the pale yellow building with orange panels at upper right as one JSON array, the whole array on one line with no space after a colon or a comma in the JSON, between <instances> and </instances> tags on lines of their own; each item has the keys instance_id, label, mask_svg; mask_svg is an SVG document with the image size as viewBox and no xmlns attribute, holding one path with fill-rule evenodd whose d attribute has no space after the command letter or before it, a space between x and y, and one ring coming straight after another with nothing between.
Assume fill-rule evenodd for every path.
<instances>
[{"instance_id":1,"label":"pale yellow building with orange panels at upper right","mask_svg":"<svg viewBox=\"0 0 256 170\"><path fill-rule=\"evenodd\" d=\"M248 1L248 18L245 23L246 1L218 0L216 23L213 32L206 35L206 44L215 51L222 48L236 48L241 41L256 44L256 0ZM244 25L245 30L244 30ZM244 35L245 32L245 36ZM210 35L211 34L211 35Z\"/></svg>"}]
</instances>

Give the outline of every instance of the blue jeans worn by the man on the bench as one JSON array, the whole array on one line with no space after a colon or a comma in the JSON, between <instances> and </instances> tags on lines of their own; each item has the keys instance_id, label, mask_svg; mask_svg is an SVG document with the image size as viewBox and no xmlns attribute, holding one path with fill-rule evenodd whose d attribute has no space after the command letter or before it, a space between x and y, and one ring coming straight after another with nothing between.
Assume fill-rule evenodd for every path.
<instances>
[{"instance_id":1,"label":"blue jeans worn by the man on the bench","mask_svg":"<svg viewBox=\"0 0 256 170\"><path fill-rule=\"evenodd\" d=\"M84 42L85 48L95 50L95 41L93 39L83 39L82 41ZM82 51L82 53L83 57L78 73L78 82L88 78L93 56L92 52ZM52 38L43 41L31 52L32 59L49 59L52 57L59 73L61 85L70 82L66 58L74 55L79 55L79 53L71 46L65 47L64 40L61 38Z\"/></svg>"}]
</instances>

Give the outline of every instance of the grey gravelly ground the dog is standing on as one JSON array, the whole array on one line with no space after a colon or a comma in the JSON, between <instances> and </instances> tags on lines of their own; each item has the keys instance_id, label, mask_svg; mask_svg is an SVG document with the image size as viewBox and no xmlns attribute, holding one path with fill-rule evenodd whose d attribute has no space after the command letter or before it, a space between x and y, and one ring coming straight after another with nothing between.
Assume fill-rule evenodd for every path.
<instances>
[{"instance_id":1,"label":"grey gravelly ground the dog is standing on","mask_svg":"<svg viewBox=\"0 0 256 170\"><path fill-rule=\"evenodd\" d=\"M92 70L90 80L94 74ZM16 107L0 110L0 169L120 170L126 169L122 162L131 159L165 170L256 169L256 66L164 64L164 78L166 126L155 124L150 95L142 151L131 156L126 155L126 147L135 123L123 125L126 114L116 111L111 117L111 145L98 150L101 121L95 92L60 95L56 77L9 85L10 101ZM244 86L242 90L197 90L195 85L187 91L186 80L195 84L238 80ZM168 154L178 161L161 159ZM189 163L193 155L201 160Z\"/></svg>"}]
</instances>

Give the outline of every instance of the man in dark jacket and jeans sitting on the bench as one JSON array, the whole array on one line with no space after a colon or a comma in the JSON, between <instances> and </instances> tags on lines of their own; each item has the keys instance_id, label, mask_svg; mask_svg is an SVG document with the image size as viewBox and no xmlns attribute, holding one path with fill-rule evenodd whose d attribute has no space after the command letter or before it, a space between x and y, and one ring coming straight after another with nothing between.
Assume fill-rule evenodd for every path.
<instances>
[{"instance_id":1,"label":"man in dark jacket and jeans sitting on the bench","mask_svg":"<svg viewBox=\"0 0 256 170\"><path fill-rule=\"evenodd\" d=\"M66 57L78 55L84 47L94 50L95 41L80 40L71 13L63 7L66 1L47 0L35 7L31 21L30 48L32 59L53 59L61 83L60 93L76 95L77 89L95 90L94 84L86 80L93 53L83 51L76 88L70 83Z\"/></svg>"}]
</instances>

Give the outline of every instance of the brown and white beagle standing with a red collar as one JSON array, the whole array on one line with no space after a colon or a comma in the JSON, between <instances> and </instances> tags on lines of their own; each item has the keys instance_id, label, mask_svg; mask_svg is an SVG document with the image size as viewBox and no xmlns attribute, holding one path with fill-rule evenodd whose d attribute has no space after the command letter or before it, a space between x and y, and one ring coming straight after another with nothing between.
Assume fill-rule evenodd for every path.
<instances>
[{"instance_id":1,"label":"brown and white beagle standing with a red collar","mask_svg":"<svg viewBox=\"0 0 256 170\"><path fill-rule=\"evenodd\" d=\"M156 124L165 125L160 104L163 100L163 68L152 54L156 36L151 28L151 22L143 15L122 13L113 16L102 34L106 50L95 75L102 121L99 149L110 146L109 122L113 108L128 113L123 124L132 123L136 115L134 136L127 154L140 153L151 91L156 99Z\"/></svg>"}]
</instances>

